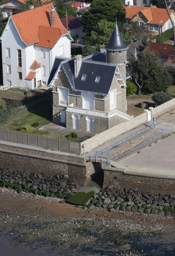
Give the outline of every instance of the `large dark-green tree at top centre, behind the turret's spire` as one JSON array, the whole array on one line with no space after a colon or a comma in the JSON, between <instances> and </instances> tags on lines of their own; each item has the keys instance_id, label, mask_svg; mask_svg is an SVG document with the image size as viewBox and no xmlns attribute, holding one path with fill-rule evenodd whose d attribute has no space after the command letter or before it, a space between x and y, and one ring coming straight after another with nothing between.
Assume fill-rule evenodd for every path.
<instances>
[{"instance_id":1,"label":"large dark-green tree at top centre, behind the turret's spire","mask_svg":"<svg viewBox=\"0 0 175 256\"><path fill-rule=\"evenodd\" d=\"M125 22L125 10L121 0L93 0L89 12L82 15L84 31L98 32L97 23L100 20L114 22L115 18L118 26L121 27Z\"/></svg>"}]
</instances>

